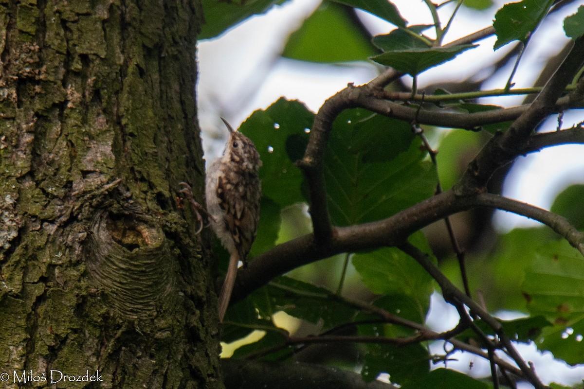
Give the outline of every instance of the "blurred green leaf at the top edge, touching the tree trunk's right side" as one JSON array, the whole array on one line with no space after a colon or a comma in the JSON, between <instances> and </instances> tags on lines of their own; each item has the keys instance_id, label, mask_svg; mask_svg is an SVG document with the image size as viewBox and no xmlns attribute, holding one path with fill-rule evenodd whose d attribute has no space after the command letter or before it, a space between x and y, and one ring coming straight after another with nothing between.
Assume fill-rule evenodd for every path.
<instances>
[{"instance_id":1,"label":"blurred green leaf at the top edge, touching the tree trunk's right side","mask_svg":"<svg viewBox=\"0 0 584 389\"><path fill-rule=\"evenodd\" d=\"M249 16L265 13L274 4L283 4L286 0L203 0L202 7L205 22L201 25L199 39L213 38Z\"/></svg>"}]
</instances>

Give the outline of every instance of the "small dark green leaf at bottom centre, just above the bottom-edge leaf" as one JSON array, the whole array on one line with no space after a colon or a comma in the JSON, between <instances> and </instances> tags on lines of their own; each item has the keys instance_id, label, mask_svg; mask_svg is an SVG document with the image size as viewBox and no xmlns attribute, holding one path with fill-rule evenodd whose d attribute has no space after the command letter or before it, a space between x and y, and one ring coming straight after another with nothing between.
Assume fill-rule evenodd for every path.
<instances>
[{"instance_id":1,"label":"small dark green leaf at bottom centre, just above the bottom-edge leaf","mask_svg":"<svg viewBox=\"0 0 584 389\"><path fill-rule=\"evenodd\" d=\"M380 373L390 374L392 383L404 386L415 385L423 380L430 371L430 356L420 344L395 347L387 344L368 344L363 357L361 377L371 382Z\"/></svg>"}]
</instances>

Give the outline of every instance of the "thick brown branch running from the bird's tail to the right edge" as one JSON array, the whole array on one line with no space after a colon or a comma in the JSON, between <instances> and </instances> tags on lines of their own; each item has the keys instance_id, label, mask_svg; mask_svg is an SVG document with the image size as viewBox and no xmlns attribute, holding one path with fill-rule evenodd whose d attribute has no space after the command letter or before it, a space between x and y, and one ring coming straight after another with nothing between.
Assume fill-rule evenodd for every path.
<instances>
[{"instance_id":1,"label":"thick brown branch running from the bird's tail to the right edge","mask_svg":"<svg viewBox=\"0 0 584 389\"><path fill-rule=\"evenodd\" d=\"M584 234L562 216L498 195L484 193L459 197L449 190L387 219L336 227L334 239L327 246L318 244L313 234L279 244L250 261L247 268L239 269L232 300L235 302L245 298L276 276L335 254L397 246L422 227L477 206L500 208L544 223L584 254Z\"/></svg>"}]
</instances>

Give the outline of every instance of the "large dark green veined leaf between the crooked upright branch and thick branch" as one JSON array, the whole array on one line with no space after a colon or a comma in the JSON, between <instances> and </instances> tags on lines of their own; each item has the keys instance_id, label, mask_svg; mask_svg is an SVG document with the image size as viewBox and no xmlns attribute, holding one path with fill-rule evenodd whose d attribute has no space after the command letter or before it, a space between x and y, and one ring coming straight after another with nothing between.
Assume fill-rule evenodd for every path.
<instances>
[{"instance_id":1,"label":"large dark green veined leaf between the crooked upright branch and thick branch","mask_svg":"<svg viewBox=\"0 0 584 389\"><path fill-rule=\"evenodd\" d=\"M406 148L408 136L399 134L404 128L391 128L392 122L354 109L343 111L333 123L325 155L325 178L335 225L387 218L433 195L436 172L432 163L424 160L427 153L420 150L416 139L405 152L395 155ZM396 144L392 145L394 133ZM375 151L366 150L367 141L363 139L376 136L387 143L379 142Z\"/></svg>"}]
</instances>

